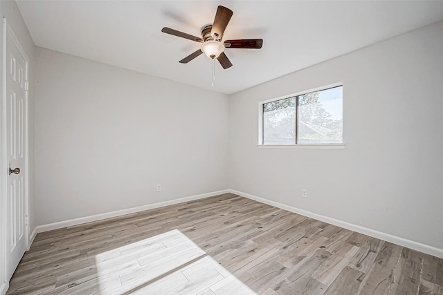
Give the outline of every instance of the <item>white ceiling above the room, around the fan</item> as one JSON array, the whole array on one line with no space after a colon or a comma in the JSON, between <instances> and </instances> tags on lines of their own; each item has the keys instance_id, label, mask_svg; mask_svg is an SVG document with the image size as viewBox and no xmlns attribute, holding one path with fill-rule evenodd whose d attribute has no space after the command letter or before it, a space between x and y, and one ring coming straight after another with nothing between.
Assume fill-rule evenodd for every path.
<instances>
[{"instance_id":1,"label":"white ceiling above the room, around the fan","mask_svg":"<svg viewBox=\"0 0 443 295\"><path fill-rule=\"evenodd\" d=\"M37 46L141 73L235 93L443 19L443 1L17 1ZM218 5L234 14L224 39L264 39L261 50L226 49L233 67L201 55ZM406 48L407 49L407 48ZM399 48L399 50L406 50Z\"/></svg>"}]
</instances>

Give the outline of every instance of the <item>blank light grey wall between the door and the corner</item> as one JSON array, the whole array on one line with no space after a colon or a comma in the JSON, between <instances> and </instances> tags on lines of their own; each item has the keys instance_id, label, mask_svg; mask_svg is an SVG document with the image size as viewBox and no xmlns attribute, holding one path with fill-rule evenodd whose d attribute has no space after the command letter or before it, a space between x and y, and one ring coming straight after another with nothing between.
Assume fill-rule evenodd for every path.
<instances>
[{"instance_id":1,"label":"blank light grey wall between the door and the corner","mask_svg":"<svg viewBox=\"0 0 443 295\"><path fill-rule=\"evenodd\" d=\"M36 77L39 225L228 187L227 95L44 48Z\"/></svg>"}]
</instances>

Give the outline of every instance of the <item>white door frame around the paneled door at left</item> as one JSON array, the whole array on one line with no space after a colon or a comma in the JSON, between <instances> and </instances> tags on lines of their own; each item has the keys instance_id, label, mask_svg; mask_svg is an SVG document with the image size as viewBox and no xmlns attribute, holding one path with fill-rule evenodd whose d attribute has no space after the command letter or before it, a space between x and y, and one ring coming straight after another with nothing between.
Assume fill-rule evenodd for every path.
<instances>
[{"instance_id":1,"label":"white door frame around the paneled door at left","mask_svg":"<svg viewBox=\"0 0 443 295\"><path fill-rule=\"evenodd\" d=\"M1 138L1 145L0 145L0 162L1 162L1 169L0 169L0 205L1 205L1 220L0 220L0 226L1 226L1 237L0 237L0 250L1 250L1 260L4 260L6 263L3 267L3 269L0 270L0 275L4 278L0 277L0 294L3 292L3 287L6 287L6 290L9 287L9 282L6 280L6 277L8 276L8 268L10 265L10 259L8 256L8 220L7 220L7 207L8 207L8 169L9 169L9 159L7 154L7 110L6 110L6 68L7 68L7 62L6 62L6 45L7 42L12 42L17 47L17 50L19 50L19 53L21 56L25 59L26 62L26 69L24 73L25 81L29 81L29 57L26 54L26 51L21 46L19 39L17 39L14 31L12 28L10 28L8 21L5 17L3 17L2 20L2 36L1 36L1 102L0 102L0 138ZM29 83L29 82L28 82ZM30 222L29 222L29 113L28 113L28 97L29 97L29 90L26 91L25 97L24 97L24 157L25 157L25 175L24 175L24 210L25 210L25 218L24 224L24 238L26 242L26 249L29 249L30 247ZM5 285L6 284L6 285Z\"/></svg>"}]
</instances>

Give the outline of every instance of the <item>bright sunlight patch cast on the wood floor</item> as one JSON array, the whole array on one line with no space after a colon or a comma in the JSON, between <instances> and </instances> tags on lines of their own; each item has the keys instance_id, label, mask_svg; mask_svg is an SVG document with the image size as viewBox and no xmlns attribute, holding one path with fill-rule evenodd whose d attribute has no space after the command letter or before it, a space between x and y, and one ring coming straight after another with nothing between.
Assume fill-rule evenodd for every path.
<instances>
[{"instance_id":1,"label":"bright sunlight patch cast on the wood floor","mask_svg":"<svg viewBox=\"0 0 443 295\"><path fill-rule=\"evenodd\" d=\"M96 272L96 294L255 294L178 229L96 255Z\"/></svg>"}]
</instances>

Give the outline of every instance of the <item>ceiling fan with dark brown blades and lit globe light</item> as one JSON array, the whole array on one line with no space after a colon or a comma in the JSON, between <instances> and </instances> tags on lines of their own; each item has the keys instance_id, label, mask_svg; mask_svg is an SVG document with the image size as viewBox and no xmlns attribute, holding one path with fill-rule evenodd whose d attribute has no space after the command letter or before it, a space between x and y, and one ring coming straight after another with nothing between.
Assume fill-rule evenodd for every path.
<instances>
[{"instance_id":1,"label":"ceiling fan with dark brown blades and lit globe light","mask_svg":"<svg viewBox=\"0 0 443 295\"><path fill-rule=\"evenodd\" d=\"M192 59L195 59L202 53L204 53L210 59L217 59L223 68L230 68L233 66L230 60L224 53L225 48L250 48L250 49L260 49L263 45L263 39L236 39L236 40L226 40L221 43L223 39L223 33L228 26L230 18L233 16L233 11L224 6L218 6L217 12L215 14L215 19L213 24L208 24L201 28L201 38L195 37L185 32L180 32L172 28L163 28L162 32L166 34L174 35L177 37L190 39L201 43L201 48L194 53L191 53L184 59L179 61L181 64L187 64Z\"/></svg>"}]
</instances>

